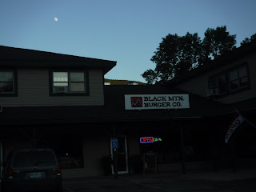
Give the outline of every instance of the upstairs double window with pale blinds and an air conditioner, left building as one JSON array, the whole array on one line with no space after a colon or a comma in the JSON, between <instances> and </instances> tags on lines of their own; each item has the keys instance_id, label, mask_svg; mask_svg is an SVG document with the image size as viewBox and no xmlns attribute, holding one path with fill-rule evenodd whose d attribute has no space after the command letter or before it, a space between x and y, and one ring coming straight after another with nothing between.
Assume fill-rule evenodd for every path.
<instances>
[{"instance_id":1,"label":"upstairs double window with pale blinds and an air conditioner, left building","mask_svg":"<svg viewBox=\"0 0 256 192\"><path fill-rule=\"evenodd\" d=\"M88 73L86 71L51 71L52 95L88 95Z\"/></svg>"}]
</instances>

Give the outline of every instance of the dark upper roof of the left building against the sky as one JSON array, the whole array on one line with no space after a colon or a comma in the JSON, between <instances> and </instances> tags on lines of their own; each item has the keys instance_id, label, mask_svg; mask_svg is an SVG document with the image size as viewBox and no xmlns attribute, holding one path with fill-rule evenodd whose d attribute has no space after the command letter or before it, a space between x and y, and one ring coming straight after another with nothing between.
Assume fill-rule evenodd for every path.
<instances>
[{"instance_id":1,"label":"dark upper roof of the left building against the sky","mask_svg":"<svg viewBox=\"0 0 256 192\"><path fill-rule=\"evenodd\" d=\"M10 46L0 46L0 66L2 67L90 67L101 68L106 74L116 62L98 58L85 58L68 54L56 54L40 50L27 50Z\"/></svg>"}]
</instances>

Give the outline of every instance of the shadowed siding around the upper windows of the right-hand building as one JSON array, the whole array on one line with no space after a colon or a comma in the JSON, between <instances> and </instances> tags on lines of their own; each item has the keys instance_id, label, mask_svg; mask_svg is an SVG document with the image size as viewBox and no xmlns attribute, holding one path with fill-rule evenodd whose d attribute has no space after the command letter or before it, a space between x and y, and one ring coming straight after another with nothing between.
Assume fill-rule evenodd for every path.
<instances>
[{"instance_id":1,"label":"shadowed siding around the upper windows of the right-hand building","mask_svg":"<svg viewBox=\"0 0 256 192\"><path fill-rule=\"evenodd\" d=\"M247 56L246 58L238 59L237 61L231 62L228 65L219 67L216 70L206 72L205 74L200 74L196 77L186 80L185 82L178 83L177 85L175 85L175 88L178 88L179 90L185 90L192 94L197 94L202 97L207 97L206 90L209 89L208 79L211 76L222 73L224 70L229 70L230 68L233 68L235 66L242 65L245 62L247 62L249 66L250 90L245 90L237 94L230 94L222 98L217 98L216 100L218 102L229 104L234 102L240 102L250 98L255 98L255 95L256 95L256 55L255 54Z\"/></svg>"}]
</instances>

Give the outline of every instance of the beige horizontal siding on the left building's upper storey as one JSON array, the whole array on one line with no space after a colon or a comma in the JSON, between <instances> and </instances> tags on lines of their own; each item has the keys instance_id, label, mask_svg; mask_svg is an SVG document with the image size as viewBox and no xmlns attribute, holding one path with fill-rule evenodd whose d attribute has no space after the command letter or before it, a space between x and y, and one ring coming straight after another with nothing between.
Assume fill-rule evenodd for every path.
<instances>
[{"instance_id":1,"label":"beige horizontal siding on the left building's upper storey","mask_svg":"<svg viewBox=\"0 0 256 192\"><path fill-rule=\"evenodd\" d=\"M4 107L12 106L102 106L102 70L89 70L89 96L50 96L49 71L19 69L18 97L1 97Z\"/></svg>"}]
</instances>

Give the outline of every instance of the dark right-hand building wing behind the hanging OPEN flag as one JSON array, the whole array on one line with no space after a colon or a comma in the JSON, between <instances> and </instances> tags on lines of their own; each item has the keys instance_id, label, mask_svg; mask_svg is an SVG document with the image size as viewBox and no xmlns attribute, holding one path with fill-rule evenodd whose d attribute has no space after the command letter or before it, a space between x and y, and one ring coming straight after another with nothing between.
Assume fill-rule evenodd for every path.
<instances>
[{"instance_id":1,"label":"dark right-hand building wing behind the hanging OPEN flag","mask_svg":"<svg viewBox=\"0 0 256 192\"><path fill-rule=\"evenodd\" d=\"M202 98L223 104L218 114L211 118L222 122L218 130L218 162L232 164L235 159L237 166L254 166L256 122L256 46L250 43L236 50L223 54L207 66L198 67L182 78L174 79L171 86L188 91ZM247 126L237 135L234 146L224 143L223 135L230 125L235 111L246 118ZM233 151L232 157L226 154Z\"/></svg>"}]
</instances>

